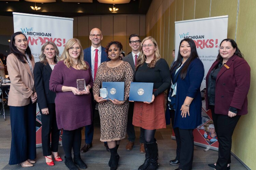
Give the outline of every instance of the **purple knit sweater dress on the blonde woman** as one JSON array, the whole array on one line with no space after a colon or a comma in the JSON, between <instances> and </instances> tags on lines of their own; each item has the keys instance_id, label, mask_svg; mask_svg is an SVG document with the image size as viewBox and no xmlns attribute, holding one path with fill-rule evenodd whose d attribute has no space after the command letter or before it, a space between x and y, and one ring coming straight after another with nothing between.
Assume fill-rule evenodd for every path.
<instances>
[{"instance_id":1,"label":"purple knit sweater dress on the blonde woman","mask_svg":"<svg viewBox=\"0 0 256 170\"><path fill-rule=\"evenodd\" d=\"M87 66L89 64L86 62ZM76 70L68 68L63 61L54 67L49 89L56 92L55 109L58 129L75 130L91 124L91 94L74 95L72 91L62 92L62 86L76 87L76 79L85 79L86 85L93 87L91 68Z\"/></svg>"}]
</instances>

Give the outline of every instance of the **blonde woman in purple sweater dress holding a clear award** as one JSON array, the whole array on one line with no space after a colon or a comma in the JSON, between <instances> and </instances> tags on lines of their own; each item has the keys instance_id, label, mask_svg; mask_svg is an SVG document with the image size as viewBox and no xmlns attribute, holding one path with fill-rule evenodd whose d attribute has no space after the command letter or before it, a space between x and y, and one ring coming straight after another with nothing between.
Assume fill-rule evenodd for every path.
<instances>
[{"instance_id":1,"label":"blonde woman in purple sweater dress holding a clear award","mask_svg":"<svg viewBox=\"0 0 256 170\"><path fill-rule=\"evenodd\" d=\"M77 89L77 79L85 79L86 90ZM65 164L72 170L78 170L75 164L82 169L87 168L80 156L80 146L82 127L91 124L91 95L88 94L92 87L91 69L89 64L84 62L81 43L72 38L68 40L60 61L54 67L49 84L49 89L56 92L56 119L58 129L63 129Z\"/></svg>"}]
</instances>

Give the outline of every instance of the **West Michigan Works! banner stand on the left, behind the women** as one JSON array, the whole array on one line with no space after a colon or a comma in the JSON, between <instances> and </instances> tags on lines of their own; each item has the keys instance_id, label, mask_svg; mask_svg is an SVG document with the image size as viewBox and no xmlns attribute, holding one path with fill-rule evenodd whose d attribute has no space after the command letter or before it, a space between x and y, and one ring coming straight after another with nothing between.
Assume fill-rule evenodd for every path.
<instances>
[{"instance_id":1,"label":"West Michigan Works! banner stand on the left, behind the women","mask_svg":"<svg viewBox=\"0 0 256 170\"><path fill-rule=\"evenodd\" d=\"M28 45L34 56L35 62L39 62L41 47L45 42L54 42L58 47L60 56L64 50L66 42L73 38L73 18L13 12L13 24L14 32L20 31L28 38ZM42 122L38 105L36 114L36 144L37 147L41 147Z\"/></svg>"}]
</instances>

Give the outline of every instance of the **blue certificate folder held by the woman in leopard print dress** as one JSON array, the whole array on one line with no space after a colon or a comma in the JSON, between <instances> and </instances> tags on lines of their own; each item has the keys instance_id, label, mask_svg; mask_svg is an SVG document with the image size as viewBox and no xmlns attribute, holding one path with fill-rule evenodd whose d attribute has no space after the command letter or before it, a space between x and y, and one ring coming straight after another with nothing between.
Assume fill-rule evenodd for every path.
<instances>
[{"instance_id":1,"label":"blue certificate folder held by the woman in leopard print dress","mask_svg":"<svg viewBox=\"0 0 256 170\"><path fill-rule=\"evenodd\" d=\"M110 99L124 100L125 82L102 82L102 87L108 89Z\"/></svg>"}]
</instances>

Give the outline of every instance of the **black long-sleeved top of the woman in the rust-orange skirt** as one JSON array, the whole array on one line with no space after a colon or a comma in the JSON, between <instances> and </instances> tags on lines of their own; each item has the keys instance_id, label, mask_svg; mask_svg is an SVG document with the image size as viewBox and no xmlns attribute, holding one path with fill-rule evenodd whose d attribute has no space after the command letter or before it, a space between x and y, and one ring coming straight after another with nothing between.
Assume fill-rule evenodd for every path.
<instances>
[{"instance_id":1,"label":"black long-sleeved top of the woman in the rust-orange skirt","mask_svg":"<svg viewBox=\"0 0 256 170\"><path fill-rule=\"evenodd\" d=\"M134 82L154 83L155 97L168 89L171 85L171 75L165 59L160 58L154 68L149 68L147 63L144 63L135 72Z\"/></svg>"}]
</instances>

